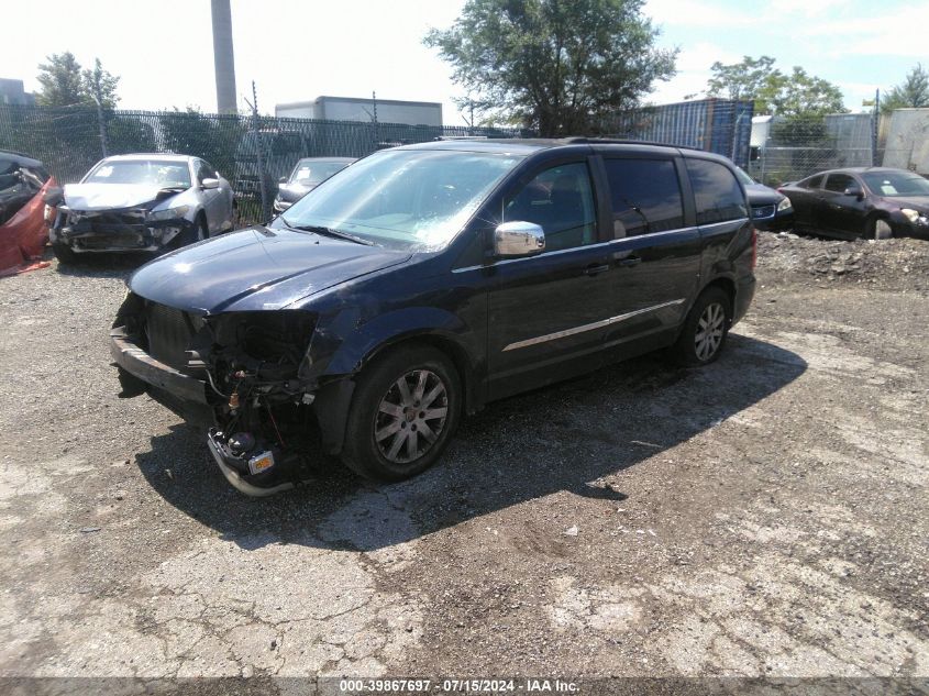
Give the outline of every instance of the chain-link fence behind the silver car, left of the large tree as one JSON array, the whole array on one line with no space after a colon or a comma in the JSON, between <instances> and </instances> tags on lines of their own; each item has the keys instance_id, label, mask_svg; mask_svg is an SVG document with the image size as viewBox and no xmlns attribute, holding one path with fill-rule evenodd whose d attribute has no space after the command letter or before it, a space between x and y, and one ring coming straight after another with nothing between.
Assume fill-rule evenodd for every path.
<instances>
[{"instance_id":1,"label":"chain-link fence behind the silver car, left of the large tree","mask_svg":"<svg viewBox=\"0 0 929 696\"><path fill-rule=\"evenodd\" d=\"M498 128L0 106L0 150L41 159L63 184L79 180L108 155L192 155L232 183L243 221L269 217L270 211L262 209L262 183L273 197L278 180L290 174L300 157L364 157L384 147L440 137L527 135L531 133Z\"/></svg>"}]
</instances>

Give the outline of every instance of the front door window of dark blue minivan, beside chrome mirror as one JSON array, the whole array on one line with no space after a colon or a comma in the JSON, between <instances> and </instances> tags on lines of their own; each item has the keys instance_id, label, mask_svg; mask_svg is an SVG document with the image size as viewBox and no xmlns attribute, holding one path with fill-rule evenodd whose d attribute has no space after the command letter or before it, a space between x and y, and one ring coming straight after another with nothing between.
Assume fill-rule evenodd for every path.
<instances>
[{"instance_id":1,"label":"front door window of dark blue minivan, beside chrome mirror","mask_svg":"<svg viewBox=\"0 0 929 696\"><path fill-rule=\"evenodd\" d=\"M545 250L597 241L590 174L583 163L545 169L504 203L504 221L534 222L545 232Z\"/></svg>"}]
</instances>

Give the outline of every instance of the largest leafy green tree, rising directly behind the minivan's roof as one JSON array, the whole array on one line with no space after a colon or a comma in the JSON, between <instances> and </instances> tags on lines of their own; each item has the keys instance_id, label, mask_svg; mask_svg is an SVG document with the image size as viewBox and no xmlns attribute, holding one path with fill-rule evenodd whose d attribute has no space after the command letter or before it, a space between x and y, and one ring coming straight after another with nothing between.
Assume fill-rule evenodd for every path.
<instances>
[{"instance_id":1,"label":"largest leafy green tree, rising directly behind the minivan's roof","mask_svg":"<svg viewBox=\"0 0 929 696\"><path fill-rule=\"evenodd\" d=\"M423 38L485 121L542 136L596 132L675 74L677 51L654 47L643 0L468 0ZM463 102L464 103L464 102Z\"/></svg>"}]
</instances>

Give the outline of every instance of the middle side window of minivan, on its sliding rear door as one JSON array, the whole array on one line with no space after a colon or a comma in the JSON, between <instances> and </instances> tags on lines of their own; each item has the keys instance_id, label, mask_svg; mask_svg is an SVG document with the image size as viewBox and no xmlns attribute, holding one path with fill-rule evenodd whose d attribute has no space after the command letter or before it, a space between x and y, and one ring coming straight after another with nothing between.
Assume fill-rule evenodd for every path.
<instances>
[{"instance_id":1,"label":"middle side window of minivan, on its sliding rear door","mask_svg":"<svg viewBox=\"0 0 929 696\"><path fill-rule=\"evenodd\" d=\"M607 159L613 236L664 232L684 227L677 169L667 159Z\"/></svg>"}]
</instances>

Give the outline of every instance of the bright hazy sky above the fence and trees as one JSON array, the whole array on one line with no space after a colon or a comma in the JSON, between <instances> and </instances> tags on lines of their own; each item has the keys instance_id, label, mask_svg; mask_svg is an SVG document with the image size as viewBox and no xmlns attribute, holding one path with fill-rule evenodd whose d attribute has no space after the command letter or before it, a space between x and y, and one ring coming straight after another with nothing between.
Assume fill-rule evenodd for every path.
<instances>
[{"instance_id":1,"label":"bright hazy sky above the fence and trees","mask_svg":"<svg viewBox=\"0 0 929 696\"><path fill-rule=\"evenodd\" d=\"M262 112L321 95L439 101L447 125L462 124L462 95L451 69L422 45L432 27L450 26L464 0L232 0L240 108L257 88ZM215 110L209 0L45 0L42 18L27 2L0 0L4 32L0 78L38 89L38 64L70 51L121 77L120 108ZM657 45L678 48L677 75L655 85L653 103L706 89L714 62L770 55L838 85L845 107L861 109L929 66L929 0L646 0L661 30ZM53 18L51 21L48 18Z\"/></svg>"}]
</instances>

